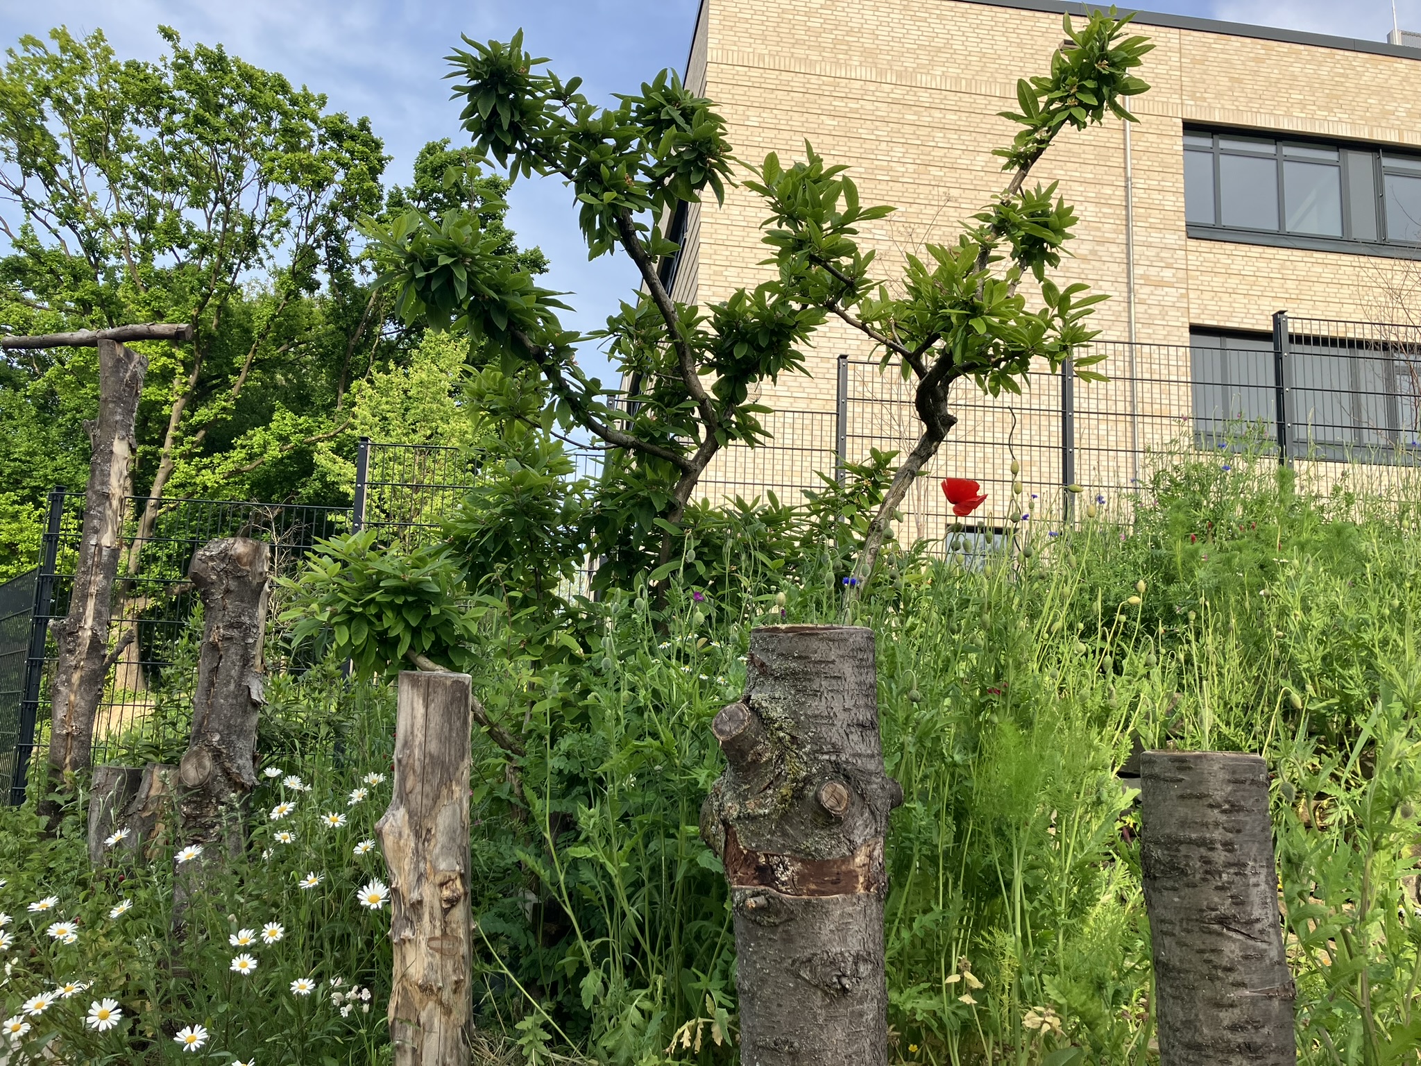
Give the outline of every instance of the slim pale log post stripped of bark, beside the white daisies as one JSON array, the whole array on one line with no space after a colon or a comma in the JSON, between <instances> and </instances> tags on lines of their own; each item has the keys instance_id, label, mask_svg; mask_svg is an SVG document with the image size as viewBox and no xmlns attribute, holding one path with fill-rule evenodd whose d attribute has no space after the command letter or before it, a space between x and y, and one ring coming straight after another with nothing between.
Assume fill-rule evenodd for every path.
<instances>
[{"instance_id":1,"label":"slim pale log post stripped of bark, beside the white daisies","mask_svg":"<svg viewBox=\"0 0 1421 1066\"><path fill-rule=\"evenodd\" d=\"M465 1066L472 1023L468 674L399 675L395 782L375 826L389 866L395 1066Z\"/></svg>"}]
</instances>

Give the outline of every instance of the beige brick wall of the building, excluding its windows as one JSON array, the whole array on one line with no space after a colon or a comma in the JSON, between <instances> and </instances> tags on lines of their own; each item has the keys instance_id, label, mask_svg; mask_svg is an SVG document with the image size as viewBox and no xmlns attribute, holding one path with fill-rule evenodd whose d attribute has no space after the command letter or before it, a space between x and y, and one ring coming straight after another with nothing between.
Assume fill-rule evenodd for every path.
<instances>
[{"instance_id":1,"label":"beige brick wall of the building, excluding its windows","mask_svg":"<svg viewBox=\"0 0 1421 1066\"><path fill-rule=\"evenodd\" d=\"M1189 240L1182 124L1421 146L1421 61L1198 30L1140 31L1157 47L1145 60L1151 90L1135 99L1141 121L1131 131L1137 338L1184 345L1191 324L1268 330L1279 308L1317 318L1376 317L1380 281L1393 262ZM774 151L790 162L803 155L807 138L830 162L850 166L865 203L895 205L890 219L865 226L861 236L892 271L924 242L953 240L961 220L1000 188L1000 161L990 152L1015 128L998 112L1016 107L1016 78L1044 71L1060 40L1060 16L959 0L705 0L688 81L699 87L703 80L739 158L757 162ZM1034 176L1060 181L1080 216L1074 257L1057 277L1110 293L1096 325L1104 340L1127 340L1123 124L1067 131ZM767 277L769 269L756 266L767 254L762 219L757 198L743 188L730 189L723 208L696 210L695 249L678 277L678 296L718 301ZM782 379L764 389L764 402L833 411L838 352L867 358L871 345L837 321L826 325L810 355L813 377ZM1096 463L1101 482L1134 472L1115 469L1128 461L1106 449L1133 441L1160 446L1187 428L1187 355L1141 351L1137 364L1161 384L1077 385L1080 402L1115 412L1091 421L1081 439L1090 455L1080 462ZM1111 365L1125 370L1123 360ZM1047 395L1052 387L1016 405L1015 439L1027 449L1040 445L1039 469L1029 476L1042 485L1059 483L1059 459L1044 446L1054 432L1044 411L1059 405L1059 395ZM961 388L963 436L1005 439L1010 414L982 405L971 385ZM901 431L911 434L912 425ZM938 466L1000 478L1005 462L999 443L963 441L946 448ZM729 462L716 476L732 476Z\"/></svg>"}]
</instances>

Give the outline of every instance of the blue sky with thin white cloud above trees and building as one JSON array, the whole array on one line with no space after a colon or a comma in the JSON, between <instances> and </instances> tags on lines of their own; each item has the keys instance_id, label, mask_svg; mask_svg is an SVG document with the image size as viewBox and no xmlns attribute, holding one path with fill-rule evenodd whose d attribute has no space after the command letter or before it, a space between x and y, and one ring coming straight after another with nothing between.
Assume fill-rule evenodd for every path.
<instances>
[{"instance_id":1,"label":"blue sky with thin white cloud above trees and building","mask_svg":"<svg viewBox=\"0 0 1421 1066\"><path fill-rule=\"evenodd\" d=\"M773 0L770 0L773 1ZM851 0L834 0L851 3ZM932 3L932 0L924 0ZM682 70L698 0L48 0L0 3L0 44L54 26L102 28L122 58L156 58L156 27L175 27L189 44L227 51L330 98L333 111L368 115L392 156L388 181L408 182L426 141L460 142L458 107L442 81L443 57L459 36L507 40L520 27L534 55L563 77L584 78L594 101L635 91L664 67ZM1383 40L1391 0L1154 0L1147 10ZM1421 0L1397 0L1403 28L1421 30ZM634 284L625 259L587 262L576 208L553 179L520 182L509 223L520 243L540 246L553 269L544 283L570 293L567 325L591 330ZM590 372L608 371L584 352Z\"/></svg>"}]
</instances>

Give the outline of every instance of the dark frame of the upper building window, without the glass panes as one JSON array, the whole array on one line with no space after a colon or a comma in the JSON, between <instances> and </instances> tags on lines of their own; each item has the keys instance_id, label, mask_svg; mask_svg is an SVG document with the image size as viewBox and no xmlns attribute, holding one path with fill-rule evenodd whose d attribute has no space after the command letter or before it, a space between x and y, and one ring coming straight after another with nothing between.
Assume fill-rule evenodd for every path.
<instances>
[{"instance_id":1,"label":"dark frame of the upper building window, without the glass panes","mask_svg":"<svg viewBox=\"0 0 1421 1066\"><path fill-rule=\"evenodd\" d=\"M1191 144L1194 138L1208 138L1209 146ZM1236 146L1223 148L1221 139L1236 139L1236 141L1256 141L1259 142L1259 151L1249 152L1239 149ZM1327 149L1336 152L1337 161L1336 168L1339 173L1340 186L1340 213L1341 213L1341 236L1324 236L1317 233L1300 233L1286 229L1287 226L1287 189L1286 189L1286 149L1290 146L1297 148L1313 148L1313 149ZM1266 151L1272 148L1272 151ZM1198 222L1187 220L1185 232L1189 237L1199 240L1225 240L1232 243L1246 243L1246 244L1266 244L1273 247L1290 247L1290 249L1309 249L1317 252L1343 252L1349 254L1363 254L1363 256L1384 256L1393 259L1417 259L1421 260L1421 239L1418 240L1397 240L1387 237L1387 193L1385 193L1385 178L1388 173L1398 173L1405 176L1418 176L1421 171L1418 169L1397 169L1385 163L1385 156L1398 156L1404 159L1412 159L1421 163L1421 149L1407 151L1397 145L1377 145L1377 144L1360 144L1351 141L1331 141L1323 138L1309 138L1309 136L1295 136L1290 134L1277 134L1255 131L1255 129L1233 129L1226 126L1195 126L1188 125L1184 128L1184 144L1182 151L1185 154L1195 152L1198 155L1205 155L1209 158L1211 171L1214 176L1214 222ZM1358 188L1360 193L1370 195L1371 203L1376 210L1374 229L1377 236L1356 236L1358 232L1358 220L1354 217L1356 203L1353 196L1353 172L1357 165L1358 155L1370 156L1371 173L1370 173L1370 189ZM1236 155L1242 158L1253 159L1272 159L1273 161L1273 175L1277 182L1276 202L1277 202L1277 225L1273 229L1260 229L1252 226L1236 226L1223 225L1223 181L1222 168L1219 161L1225 155ZM1293 162L1299 159L1293 158ZM1323 165L1333 165L1330 161L1314 161ZM1361 179L1358 178L1358 182ZM1188 195L1188 193L1187 193ZM1188 206L1185 208L1188 216ZM1366 232L1368 227L1363 227Z\"/></svg>"}]
</instances>

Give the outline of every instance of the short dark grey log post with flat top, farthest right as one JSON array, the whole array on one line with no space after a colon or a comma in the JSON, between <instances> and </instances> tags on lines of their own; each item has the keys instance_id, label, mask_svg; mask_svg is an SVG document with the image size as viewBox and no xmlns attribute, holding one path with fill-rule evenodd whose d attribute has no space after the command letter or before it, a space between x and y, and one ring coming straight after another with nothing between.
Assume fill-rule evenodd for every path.
<instances>
[{"instance_id":1,"label":"short dark grey log post with flat top, farthest right","mask_svg":"<svg viewBox=\"0 0 1421 1066\"><path fill-rule=\"evenodd\" d=\"M1293 1066L1268 765L1145 752L1140 787L1161 1066Z\"/></svg>"}]
</instances>

